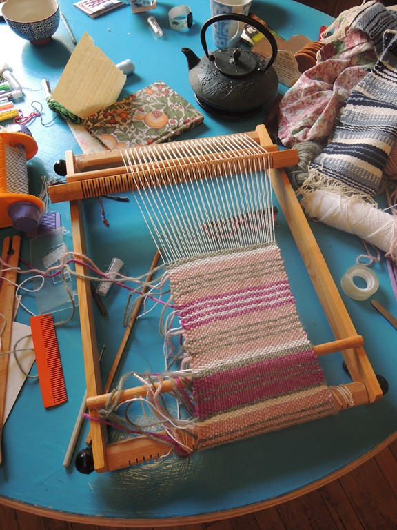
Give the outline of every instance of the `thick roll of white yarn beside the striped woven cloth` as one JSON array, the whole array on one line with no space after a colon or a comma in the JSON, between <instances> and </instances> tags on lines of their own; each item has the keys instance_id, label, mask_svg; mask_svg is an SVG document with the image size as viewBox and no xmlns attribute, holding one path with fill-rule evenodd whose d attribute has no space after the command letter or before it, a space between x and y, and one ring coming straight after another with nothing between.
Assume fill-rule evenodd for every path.
<instances>
[{"instance_id":1,"label":"thick roll of white yarn beside the striped woven cloth","mask_svg":"<svg viewBox=\"0 0 397 530\"><path fill-rule=\"evenodd\" d=\"M307 193L301 204L309 217L357 235L381 251L389 252L396 241L396 217L378 210L374 204L326 190Z\"/></svg>"}]
</instances>

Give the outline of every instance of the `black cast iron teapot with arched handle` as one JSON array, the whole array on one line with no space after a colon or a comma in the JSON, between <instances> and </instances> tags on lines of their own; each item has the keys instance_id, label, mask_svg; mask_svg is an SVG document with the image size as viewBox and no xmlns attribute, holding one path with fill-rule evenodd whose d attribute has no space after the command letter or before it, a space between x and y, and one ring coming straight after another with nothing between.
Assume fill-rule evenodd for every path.
<instances>
[{"instance_id":1,"label":"black cast iron teapot with arched handle","mask_svg":"<svg viewBox=\"0 0 397 530\"><path fill-rule=\"evenodd\" d=\"M222 20L236 20L259 30L272 46L272 57L265 59L245 48L221 48L208 53L205 31ZM187 57L189 82L199 104L225 117L244 117L258 110L266 112L277 95L278 78L272 64L277 55L273 35L260 22L244 14L217 14L201 28L201 59L190 48L181 51Z\"/></svg>"}]
</instances>

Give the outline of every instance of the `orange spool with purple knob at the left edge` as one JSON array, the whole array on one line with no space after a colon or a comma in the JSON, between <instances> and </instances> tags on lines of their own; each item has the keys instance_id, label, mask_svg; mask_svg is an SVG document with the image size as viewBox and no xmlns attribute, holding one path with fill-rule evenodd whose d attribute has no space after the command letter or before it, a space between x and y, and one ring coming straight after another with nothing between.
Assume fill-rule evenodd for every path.
<instances>
[{"instance_id":1,"label":"orange spool with purple knob at the left edge","mask_svg":"<svg viewBox=\"0 0 397 530\"><path fill-rule=\"evenodd\" d=\"M0 228L22 232L39 226L43 202L28 192L26 160L37 153L37 143L27 128L0 130Z\"/></svg>"}]
</instances>

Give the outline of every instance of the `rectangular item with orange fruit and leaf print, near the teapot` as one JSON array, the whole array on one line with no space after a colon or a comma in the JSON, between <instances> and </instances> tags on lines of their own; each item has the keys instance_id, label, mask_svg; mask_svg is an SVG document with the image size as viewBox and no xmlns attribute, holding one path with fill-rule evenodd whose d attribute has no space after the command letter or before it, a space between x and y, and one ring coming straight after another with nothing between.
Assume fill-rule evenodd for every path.
<instances>
[{"instance_id":1,"label":"rectangular item with orange fruit and leaf print, near the teapot","mask_svg":"<svg viewBox=\"0 0 397 530\"><path fill-rule=\"evenodd\" d=\"M157 81L88 116L84 125L107 148L123 149L170 140L203 119L175 90Z\"/></svg>"}]
</instances>

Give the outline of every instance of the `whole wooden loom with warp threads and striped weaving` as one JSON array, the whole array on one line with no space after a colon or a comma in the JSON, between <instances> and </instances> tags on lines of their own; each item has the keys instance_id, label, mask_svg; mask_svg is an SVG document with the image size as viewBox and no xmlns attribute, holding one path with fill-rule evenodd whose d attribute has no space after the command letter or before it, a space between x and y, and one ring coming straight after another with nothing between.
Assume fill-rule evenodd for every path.
<instances>
[{"instance_id":1,"label":"whole wooden loom with warp threads and striped weaving","mask_svg":"<svg viewBox=\"0 0 397 530\"><path fill-rule=\"evenodd\" d=\"M96 471L172 451L240 440L378 400L382 391L312 230L280 168L265 126L255 131L92 155L66 153L67 181L52 202L70 201L74 251L85 254L81 199L132 190L166 266L170 336L180 364L144 384L103 393L89 282L77 277L90 433ZM272 190L334 333L312 346L299 320L276 244ZM84 274L83 265L76 264ZM327 386L318 355L340 351L352 382ZM167 368L167 367L166 367ZM187 417L172 417L172 394ZM110 442L103 409L145 399L156 425ZM116 402L113 402L116 400ZM134 429L130 429L133 431Z\"/></svg>"}]
</instances>

